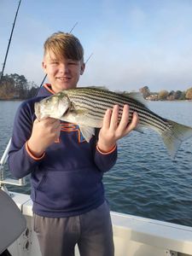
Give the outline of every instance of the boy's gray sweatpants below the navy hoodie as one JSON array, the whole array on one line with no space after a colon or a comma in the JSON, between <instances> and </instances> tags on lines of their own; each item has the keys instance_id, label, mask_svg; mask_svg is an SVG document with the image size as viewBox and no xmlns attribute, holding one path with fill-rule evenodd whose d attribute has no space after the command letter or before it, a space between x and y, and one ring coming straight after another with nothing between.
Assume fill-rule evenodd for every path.
<instances>
[{"instance_id":1,"label":"boy's gray sweatpants below the navy hoodie","mask_svg":"<svg viewBox=\"0 0 192 256\"><path fill-rule=\"evenodd\" d=\"M113 256L113 230L108 203L69 218L45 218L34 213L34 230L43 256Z\"/></svg>"}]
</instances>

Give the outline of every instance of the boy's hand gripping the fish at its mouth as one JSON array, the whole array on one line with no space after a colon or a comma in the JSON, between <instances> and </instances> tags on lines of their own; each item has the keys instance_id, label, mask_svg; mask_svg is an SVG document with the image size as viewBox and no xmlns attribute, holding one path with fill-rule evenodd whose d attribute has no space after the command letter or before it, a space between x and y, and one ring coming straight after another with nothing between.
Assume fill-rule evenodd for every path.
<instances>
[{"instance_id":1,"label":"boy's hand gripping the fish at its mouth","mask_svg":"<svg viewBox=\"0 0 192 256\"><path fill-rule=\"evenodd\" d=\"M59 119L35 119L32 136L28 140L28 148L35 157L44 154L46 148L60 137L61 123Z\"/></svg>"}]
</instances>

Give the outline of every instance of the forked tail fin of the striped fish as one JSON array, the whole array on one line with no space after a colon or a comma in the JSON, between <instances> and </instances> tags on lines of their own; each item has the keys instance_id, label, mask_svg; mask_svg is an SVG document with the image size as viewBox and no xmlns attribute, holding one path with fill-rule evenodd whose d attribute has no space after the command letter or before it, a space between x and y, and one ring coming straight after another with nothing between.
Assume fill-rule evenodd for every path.
<instances>
[{"instance_id":1,"label":"forked tail fin of the striped fish","mask_svg":"<svg viewBox=\"0 0 192 256\"><path fill-rule=\"evenodd\" d=\"M161 133L166 148L171 154L172 158L175 158L177 150L183 141L192 137L192 128L186 125L178 124L172 120L167 119L168 129Z\"/></svg>"}]
</instances>

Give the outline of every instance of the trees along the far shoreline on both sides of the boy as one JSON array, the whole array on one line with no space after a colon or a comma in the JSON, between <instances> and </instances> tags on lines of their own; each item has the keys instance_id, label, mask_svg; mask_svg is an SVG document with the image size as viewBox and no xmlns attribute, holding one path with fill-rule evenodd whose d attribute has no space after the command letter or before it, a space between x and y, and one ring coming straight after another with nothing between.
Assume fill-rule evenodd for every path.
<instances>
[{"instance_id":1,"label":"trees along the far shoreline on both sides of the boy","mask_svg":"<svg viewBox=\"0 0 192 256\"><path fill-rule=\"evenodd\" d=\"M0 81L0 100L25 100L35 96L37 91L37 84L28 82L24 75L19 75L17 73L6 74ZM143 86L139 91L143 94L143 97L148 100L192 100L192 87L186 91L160 90L159 92L151 92L148 86ZM125 94L126 93L127 92L125 91Z\"/></svg>"}]
</instances>

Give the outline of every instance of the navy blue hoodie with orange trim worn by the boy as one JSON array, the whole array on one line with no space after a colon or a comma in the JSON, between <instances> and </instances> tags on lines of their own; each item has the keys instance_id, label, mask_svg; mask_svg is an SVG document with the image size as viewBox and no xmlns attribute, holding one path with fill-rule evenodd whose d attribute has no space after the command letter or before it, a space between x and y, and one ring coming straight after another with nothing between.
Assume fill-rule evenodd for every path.
<instances>
[{"instance_id":1,"label":"navy blue hoodie with orange trim worn by the boy","mask_svg":"<svg viewBox=\"0 0 192 256\"><path fill-rule=\"evenodd\" d=\"M38 96L21 103L15 115L9 170L16 178L31 173L33 212L60 218L89 212L102 204L102 176L115 164L117 148L103 154L96 147L96 137L87 143L78 125L61 121L59 141L42 157L34 157L27 147L36 119L34 103L52 94L50 85L45 84Z\"/></svg>"}]
</instances>

